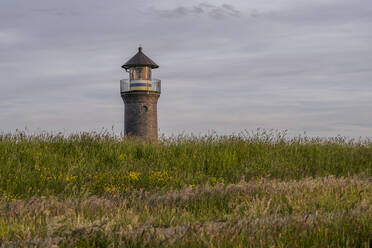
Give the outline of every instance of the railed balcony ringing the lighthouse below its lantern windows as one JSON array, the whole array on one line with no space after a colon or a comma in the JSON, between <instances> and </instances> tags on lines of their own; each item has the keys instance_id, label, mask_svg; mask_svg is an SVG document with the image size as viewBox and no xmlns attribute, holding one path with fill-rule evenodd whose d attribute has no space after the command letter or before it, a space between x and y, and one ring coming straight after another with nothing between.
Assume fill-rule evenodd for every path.
<instances>
[{"instance_id":1,"label":"railed balcony ringing the lighthouse below its lantern windows","mask_svg":"<svg viewBox=\"0 0 372 248\"><path fill-rule=\"evenodd\" d=\"M120 92L131 92L131 91L148 91L148 92L161 92L161 80L120 80Z\"/></svg>"}]
</instances>

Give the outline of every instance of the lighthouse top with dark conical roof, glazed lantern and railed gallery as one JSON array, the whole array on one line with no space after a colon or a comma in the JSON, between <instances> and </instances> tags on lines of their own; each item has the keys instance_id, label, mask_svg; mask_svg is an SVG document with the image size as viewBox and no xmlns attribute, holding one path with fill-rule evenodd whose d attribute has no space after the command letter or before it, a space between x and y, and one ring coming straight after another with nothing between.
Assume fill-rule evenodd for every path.
<instances>
[{"instance_id":1,"label":"lighthouse top with dark conical roof, glazed lantern and railed gallery","mask_svg":"<svg viewBox=\"0 0 372 248\"><path fill-rule=\"evenodd\" d=\"M160 92L160 80L152 79L152 69L159 66L142 52L142 47L122 68L129 72L129 80L121 80L121 91L156 91Z\"/></svg>"}]
</instances>

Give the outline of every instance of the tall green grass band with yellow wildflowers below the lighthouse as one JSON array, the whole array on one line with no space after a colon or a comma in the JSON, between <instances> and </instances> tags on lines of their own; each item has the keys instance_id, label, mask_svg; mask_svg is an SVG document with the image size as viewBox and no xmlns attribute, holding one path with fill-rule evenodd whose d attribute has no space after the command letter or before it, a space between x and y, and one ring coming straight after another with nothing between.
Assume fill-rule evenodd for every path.
<instances>
[{"instance_id":1,"label":"tall green grass band with yellow wildflowers below the lighthouse","mask_svg":"<svg viewBox=\"0 0 372 248\"><path fill-rule=\"evenodd\" d=\"M260 131L146 143L109 134L0 135L0 195L102 195L242 179L372 173L372 142Z\"/></svg>"}]
</instances>

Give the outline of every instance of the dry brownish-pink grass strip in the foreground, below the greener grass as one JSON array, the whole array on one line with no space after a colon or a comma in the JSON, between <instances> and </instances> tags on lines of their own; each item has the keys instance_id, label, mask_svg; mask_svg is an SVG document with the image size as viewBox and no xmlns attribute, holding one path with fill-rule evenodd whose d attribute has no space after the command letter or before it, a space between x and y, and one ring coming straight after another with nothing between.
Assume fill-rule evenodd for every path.
<instances>
[{"instance_id":1,"label":"dry brownish-pink grass strip in the foreground, below the greener grass","mask_svg":"<svg viewBox=\"0 0 372 248\"><path fill-rule=\"evenodd\" d=\"M367 235L372 234L372 183L357 176L262 179L161 193L133 190L126 196L33 197L2 201L0 209L3 246L89 246L102 241L106 243L100 245L108 247L267 247L301 245L306 233L316 236L306 240L313 245L340 242L340 246L367 247ZM354 236L351 229L358 228L364 229Z\"/></svg>"}]
</instances>

